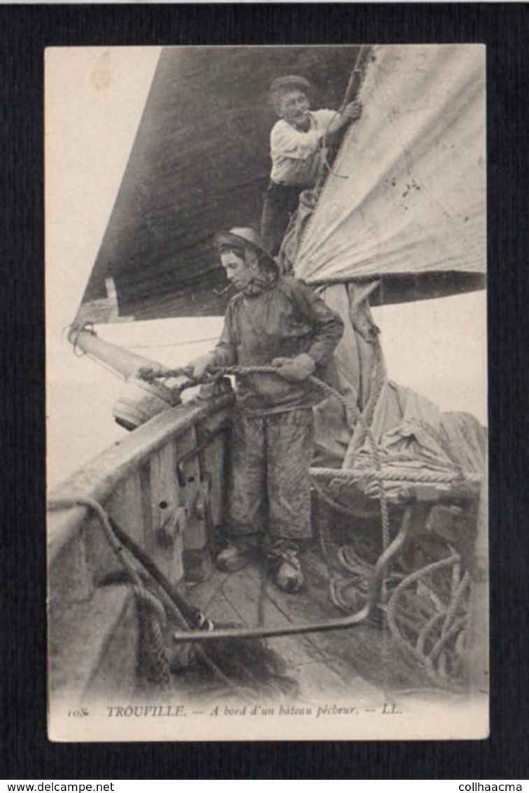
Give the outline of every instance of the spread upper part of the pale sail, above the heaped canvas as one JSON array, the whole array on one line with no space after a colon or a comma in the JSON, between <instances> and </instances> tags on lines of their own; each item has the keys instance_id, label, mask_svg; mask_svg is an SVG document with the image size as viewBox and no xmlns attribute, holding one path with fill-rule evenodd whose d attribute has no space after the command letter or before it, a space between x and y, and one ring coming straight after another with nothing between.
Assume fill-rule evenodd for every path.
<instances>
[{"instance_id":1,"label":"spread upper part of the pale sail, above the heaped canvas","mask_svg":"<svg viewBox=\"0 0 529 793\"><path fill-rule=\"evenodd\" d=\"M295 274L382 279L371 303L485 280L485 48L371 50L361 99L304 232Z\"/></svg>"}]
</instances>

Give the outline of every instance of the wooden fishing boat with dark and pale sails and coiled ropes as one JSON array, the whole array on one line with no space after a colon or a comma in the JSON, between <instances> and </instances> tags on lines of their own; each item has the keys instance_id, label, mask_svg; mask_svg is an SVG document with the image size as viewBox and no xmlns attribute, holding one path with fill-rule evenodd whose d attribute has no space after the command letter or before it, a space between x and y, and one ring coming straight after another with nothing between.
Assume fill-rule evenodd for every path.
<instances>
[{"instance_id":1,"label":"wooden fishing boat with dark and pale sails and coiled ropes","mask_svg":"<svg viewBox=\"0 0 529 793\"><path fill-rule=\"evenodd\" d=\"M282 74L320 106L363 105L278 256L345 324L313 383L295 595L257 562L215 569L234 372L147 382L146 358L104 338L222 316L211 240L259 224ZM51 737L486 734L485 427L389 379L371 312L485 288L484 96L474 45L162 51L69 331L124 380L109 420L130 432L48 494Z\"/></svg>"}]
</instances>

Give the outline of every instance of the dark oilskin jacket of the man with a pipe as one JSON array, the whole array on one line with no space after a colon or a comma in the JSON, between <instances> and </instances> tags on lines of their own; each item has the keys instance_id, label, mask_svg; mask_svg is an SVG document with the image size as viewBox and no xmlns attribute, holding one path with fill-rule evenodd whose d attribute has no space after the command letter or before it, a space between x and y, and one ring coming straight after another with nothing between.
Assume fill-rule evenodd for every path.
<instances>
[{"instance_id":1,"label":"dark oilskin jacket of the man with a pipe","mask_svg":"<svg viewBox=\"0 0 529 793\"><path fill-rule=\"evenodd\" d=\"M213 352L215 365L268 366L273 358L307 353L318 377L343 332L340 317L313 289L278 277L260 293L239 293L230 301ZM308 408L322 399L310 383L291 383L277 374L240 376L237 391L238 409L246 416Z\"/></svg>"}]
</instances>

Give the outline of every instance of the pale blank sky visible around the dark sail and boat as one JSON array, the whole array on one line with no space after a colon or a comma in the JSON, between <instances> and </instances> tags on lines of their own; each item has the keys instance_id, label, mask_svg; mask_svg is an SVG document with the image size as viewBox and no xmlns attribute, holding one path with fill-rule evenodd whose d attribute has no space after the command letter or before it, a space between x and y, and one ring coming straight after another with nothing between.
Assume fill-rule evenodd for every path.
<instances>
[{"instance_id":1,"label":"pale blank sky visible around the dark sail and boat","mask_svg":"<svg viewBox=\"0 0 529 793\"><path fill-rule=\"evenodd\" d=\"M48 48L45 206L48 481L54 485L124 434L123 383L65 330L74 319L127 164L160 48ZM444 410L486 412L484 292L374 309L392 379ZM207 351L222 320L154 320L98 329L108 341L179 365ZM202 341L204 339L204 341ZM177 346L173 346L173 345Z\"/></svg>"}]
</instances>

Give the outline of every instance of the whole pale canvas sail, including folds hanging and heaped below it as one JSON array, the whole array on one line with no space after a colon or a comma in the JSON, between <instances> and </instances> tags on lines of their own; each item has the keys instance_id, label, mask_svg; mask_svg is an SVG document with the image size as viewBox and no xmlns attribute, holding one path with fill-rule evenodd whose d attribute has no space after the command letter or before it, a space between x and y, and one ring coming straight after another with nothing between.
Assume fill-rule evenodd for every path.
<instances>
[{"instance_id":1,"label":"whole pale canvas sail, including folds hanging and heaped below it","mask_svg":"<svg viewBox=\"0 0 529 793\"><path fill-rule=\"evenodd\" d=\"M318 408L320 460L352 470L371 494L373 441L389 492L419 474L483 470L485 435L473 416L443 414L388 380L369 305L477 289L486 259L483 48L372 55L361 121L306 221L294 268L344 320L329 377L362 414L361 423L344 416L333 400Z\"/></svg>"}]
</instances>

